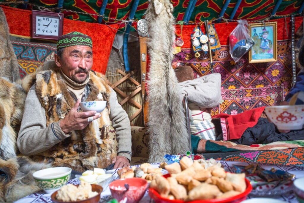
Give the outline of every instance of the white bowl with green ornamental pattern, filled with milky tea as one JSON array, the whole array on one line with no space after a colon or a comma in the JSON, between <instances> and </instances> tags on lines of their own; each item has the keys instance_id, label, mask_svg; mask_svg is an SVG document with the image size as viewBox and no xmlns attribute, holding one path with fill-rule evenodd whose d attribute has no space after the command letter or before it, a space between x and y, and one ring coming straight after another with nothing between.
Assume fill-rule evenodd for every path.
<instances>
[{"instance_id":1,"label":"white bowl with green ornamental pattern, filled with milky tea","mask_svg":"<svg viewBox=\"0 0 304 203\"><path fill-rule=\"evenodd\" d=\"M68 167L54 167L36 171L33 177L38 187L46 193L53 193L67 183L71 171L72 169Z\"/></svg>"}]
</instances>

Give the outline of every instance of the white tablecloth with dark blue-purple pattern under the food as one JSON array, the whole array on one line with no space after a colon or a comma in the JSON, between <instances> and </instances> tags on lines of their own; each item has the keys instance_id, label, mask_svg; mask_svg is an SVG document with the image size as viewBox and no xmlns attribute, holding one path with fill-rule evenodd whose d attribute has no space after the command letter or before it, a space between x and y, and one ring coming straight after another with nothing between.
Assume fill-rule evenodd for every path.
<instances>
[{"instance_id":1,"label":"white tablecloth with dark blue-purple pattern under the food","mask_svg":"<svg viewBox=\"0 0 304 203\"><path fill-rule=\"evenodd\" d=\"M233 165L248 165L252 164L253 162L235 162L235 161L220 161L221 164L224 166L224 169L226 171L233 172L234 168ZM152 163L151 164L153 167L157 168L159 167L159 163ZM272 167L278 170L283 170L283 171L288 171L289 173L295 174L296 178L304 177L304 167L303 166L285 166L285 165L269 165L269 164L262 164L259 163L260 166L262 166L264 169L270 170ZM136 165L140 166L140 165ZM117 170L109 170L108 172L111 172L113 176L115 177L114 179L118 178ZM78 179L72 179L69 180L68 183L78 185L80 184ZM248 196L250 197L250 195ZM294 193L292 191L288 192L287 194L281 195L280 197L277 197L280 200L290 202L290 203L298 203L297 199L294 196ZM99 203L107 203L112 199L111 192L109 187L106 187L104 191L101 193L101 198ZM43 191L40 191L38 193L34 193L31 195L28 195L22 199L19 199L15 203L37 203L37 202L53 202L50 198L50 194L46 194ZM153 203L154 201L149 197L148 195L148 190L146 191L145 195L143 198L140 200L140 203Z\"/></svg>"}]
</instances>

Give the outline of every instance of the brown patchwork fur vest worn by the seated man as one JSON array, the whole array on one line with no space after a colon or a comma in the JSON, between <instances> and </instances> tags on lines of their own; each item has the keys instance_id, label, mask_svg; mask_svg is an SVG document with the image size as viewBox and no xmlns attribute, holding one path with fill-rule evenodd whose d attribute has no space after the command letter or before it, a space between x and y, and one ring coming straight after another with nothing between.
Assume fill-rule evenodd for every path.
<instances>
[{"instance_id":1,"label":"brown patchwork fur vest worn by the seated man","mask_svg":"<svg viewBox=\"0 0 304 203\"><path fill-rule=\"evenodd\" d=\"M50 149L34 155L35 161L52 163L53 166L67 166L77 171L105 168L117 155L116 131L110 120L109 97L111 90L100 73L90 72L85 87L85 101L107 101L102 116L85 129L71 131L71 136ZM42 71L36 75L36 93L45 109L47 126L65 117L76 102L58 71Z\"/></svg>"}]
</instances>

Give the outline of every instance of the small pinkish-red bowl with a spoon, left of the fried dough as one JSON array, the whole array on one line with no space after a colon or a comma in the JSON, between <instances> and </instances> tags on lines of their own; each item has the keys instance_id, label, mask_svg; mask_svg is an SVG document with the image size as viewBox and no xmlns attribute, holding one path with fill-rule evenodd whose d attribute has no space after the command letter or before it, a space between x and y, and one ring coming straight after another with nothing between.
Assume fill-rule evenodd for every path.
<instances>
[{"instance_id":1,"label":"small pinkish-red bowl with a spoon, left of the fried dough","mask_svg":"<svg viewBox=\"0 0 304 203\"><path fill-rule=\"evenodd\" d=\"M129 185L129 190L126 190L125 184ZM127 203L135 203L143 198L148 187L147 180L142 178L126 178L114 180L109 184L109 188L113 198L118 201L127 198Z\"/></svg>"}]
</instances>

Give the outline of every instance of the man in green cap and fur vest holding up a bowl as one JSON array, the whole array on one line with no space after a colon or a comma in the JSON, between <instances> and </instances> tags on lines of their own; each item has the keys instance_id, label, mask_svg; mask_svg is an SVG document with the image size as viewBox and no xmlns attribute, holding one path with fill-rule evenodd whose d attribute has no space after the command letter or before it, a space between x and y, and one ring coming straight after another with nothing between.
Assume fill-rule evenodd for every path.
<instances>
[{"instance_id":1,"label":"man in green cap and fur vest holding up a bowl","mask_svg":"<svg viewBox=\"0 0 304 203\"><path fill-rule=\"evenodd\" d=\"M79 172L130 166L129 118L92 65L91 37L79 32L59 37L55 61L32 77L17 139L23 155ZM107 104L100 114L79 107L81 101L102 100Z\"/></svg>"}]
</instances>

